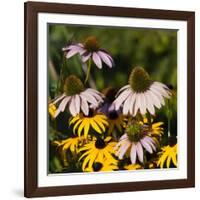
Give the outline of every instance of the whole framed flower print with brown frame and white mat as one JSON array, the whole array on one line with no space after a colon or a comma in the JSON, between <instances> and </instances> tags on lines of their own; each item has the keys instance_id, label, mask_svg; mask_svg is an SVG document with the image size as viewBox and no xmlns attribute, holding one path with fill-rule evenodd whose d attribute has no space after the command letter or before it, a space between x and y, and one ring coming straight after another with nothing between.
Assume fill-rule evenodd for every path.
<instances>
[{"instance_id":1,"label":"whole framed flower print with brown frame and white mat","mask_svg":"<svg viewBox=\"0 0 200 200\"><path fill-rule=\"evenodd\" d=\"M194 187L195 14L25 3L25 196Z\"/></svg>"}]
</instances>

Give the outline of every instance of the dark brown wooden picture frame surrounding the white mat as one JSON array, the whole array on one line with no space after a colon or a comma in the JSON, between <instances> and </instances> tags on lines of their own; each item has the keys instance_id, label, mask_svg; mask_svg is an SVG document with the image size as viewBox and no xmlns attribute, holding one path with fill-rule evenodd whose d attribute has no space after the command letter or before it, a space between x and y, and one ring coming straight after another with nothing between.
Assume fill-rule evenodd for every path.
<instances>
[{"instance_id":1,"label":"dark brown wooden picture frame surrounding the white mat","mask_svg":"<svg viewBox=\"0 0 200 200\"><path fill-rule=\"evenodd\" d=\"M93 184L59 187L37 185L37 14L63 13L98 16L137 17L183 20L187 22L188 45L188 141L187 179L131 183ZM120 25L119 25L120 26ZM77 195L89 193L194 187L195 185L195 13L185 11L72 5L43 2L25 3L25 166L24 195L26 197Z\"/></svg>"}]
</instances>

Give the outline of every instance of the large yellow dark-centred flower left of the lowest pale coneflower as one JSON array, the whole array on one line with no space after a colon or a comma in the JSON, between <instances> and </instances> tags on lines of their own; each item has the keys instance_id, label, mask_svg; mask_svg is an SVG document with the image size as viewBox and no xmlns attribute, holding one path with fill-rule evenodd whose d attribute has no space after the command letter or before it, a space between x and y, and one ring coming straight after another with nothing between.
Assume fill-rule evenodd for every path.
<instances>
[{"instance_id":1,"label":"large yellow dark-centred flower left of the lowest pale coneflower","mask_svg":"<svg viewBox=\"0 0 200 200\"><path fill-rule=\"evenodd\" d=\"M112 142L111 139L111 137L106 137L104 140L95 138L79 149L83 153L79 158L79 160L83 160L83 171L86 168L91 169L96 161L103 163L107 160L109 163L116 164L116 159L113 157L116 142Z\"/></svg>"}]
</instances>

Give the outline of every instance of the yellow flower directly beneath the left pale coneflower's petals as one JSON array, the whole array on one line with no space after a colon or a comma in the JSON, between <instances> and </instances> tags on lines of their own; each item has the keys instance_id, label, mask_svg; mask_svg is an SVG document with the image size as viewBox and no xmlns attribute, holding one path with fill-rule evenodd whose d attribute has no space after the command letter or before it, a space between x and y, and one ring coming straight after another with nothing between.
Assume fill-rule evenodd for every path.
<instances>
[{"instance_id":1,"label":"yellow flower directly beneath the left pale coneflower's petals","mask_svg":"<svg viewBox=\"0 0 200 200\"><path fill-rule=\"evenodd\" d=\"M89 131L91 131L90 129L102 134L109 125L107 117L103 113L97 113L93 109L89 110L88 115L80 113L70 119L69 125L72 124L74 124L73 132L77 133L78 136L84 135L85 138L87 138Z\"/></svg>"}]
</instances>

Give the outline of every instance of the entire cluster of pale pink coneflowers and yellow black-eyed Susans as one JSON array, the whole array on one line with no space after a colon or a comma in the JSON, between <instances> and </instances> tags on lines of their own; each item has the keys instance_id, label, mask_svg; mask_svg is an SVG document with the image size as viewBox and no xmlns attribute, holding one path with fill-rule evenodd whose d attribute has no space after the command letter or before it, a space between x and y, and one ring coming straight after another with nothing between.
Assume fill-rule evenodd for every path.
<instances>
[{"instance_id":1,"label":"entire cluster of pale pink coneflowers and yellow black-eyed Susans","mask_svg":"<svg viewBox=\"0 0 200 200\"><path fill-rule=\"evenodd\" d=\"M133 69L128 85L118 92L111 87L102 93L85 88L92 61L99 69L102 62L112 68L111 55L100 49L94 37L63 51L67 59L79 54L88 63L85 83L68 76L63 94L49 104L52 120L61 112L69 111L71 116L66 139L52 142L63 163L69 166L73 157L83 172L177 167L176 140L163 145L164 123L153 121L156 109L171 98L170 89L151 80L141 67Z\"/></svg>"}]
</instances>

